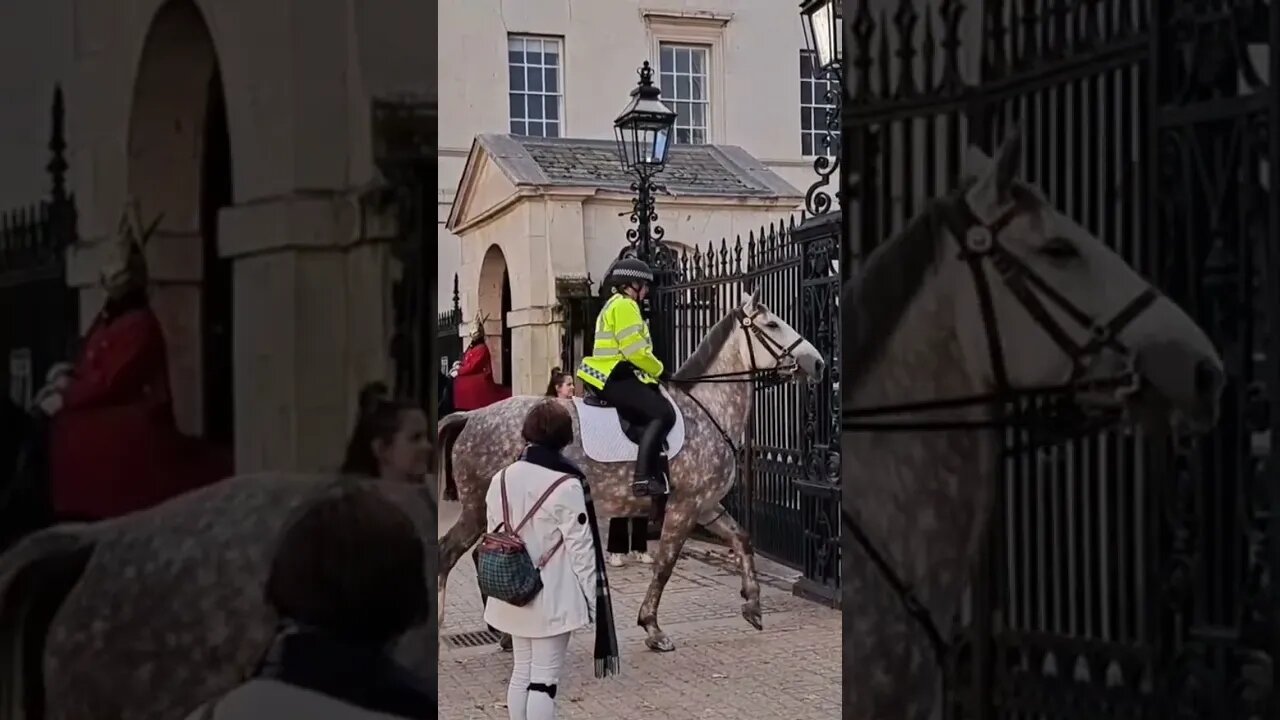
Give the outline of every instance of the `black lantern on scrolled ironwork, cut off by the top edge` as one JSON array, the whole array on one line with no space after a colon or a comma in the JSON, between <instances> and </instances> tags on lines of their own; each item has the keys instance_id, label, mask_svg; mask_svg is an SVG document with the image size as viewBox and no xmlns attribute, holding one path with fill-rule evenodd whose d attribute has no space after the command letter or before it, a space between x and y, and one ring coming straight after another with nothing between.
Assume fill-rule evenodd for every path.
<instances>
[{"instance_id":1,"label":"black lantern on scrolled ironwork, cut off by the top edge","mask_svg":"<svg viewBox=\"0 0 1280 720\"><path fill-rule=\"evenodd\" d=\"M831 176L840 170L840 106L845 95L844 69L841 67L844 50L844 23L841 18L841 0L804 0L800 3L800 15L804 18L805 45L814 58L814 79L827 82L827 147L831 155L819 155L813 161L813 170L818 173L814 182L805 193L805 209L812 215L822 215L831 210L832 199L826 187L831 183ZM836 177L836 197L844 193L838 190L838 176Z\"/></svg>"}]
</instances>

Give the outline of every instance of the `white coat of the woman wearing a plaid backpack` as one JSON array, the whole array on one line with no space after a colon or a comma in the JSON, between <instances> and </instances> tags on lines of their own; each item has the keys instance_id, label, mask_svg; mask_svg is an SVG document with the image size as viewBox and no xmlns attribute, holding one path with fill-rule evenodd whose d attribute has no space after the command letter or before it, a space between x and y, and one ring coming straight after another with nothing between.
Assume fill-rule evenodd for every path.
<instances>
[{"instance_id":1,"label":"white coat of the woman wearing a plaid backpack","mask_svg":"<svg viewBox=\"0 0 1280 720\"><path fill-rule=\"evenodd\" d=\"M543 492L563 473L518 461L507 468L511 523L518 525ZM502 524L502 473L489 483L489 532ZM490 597L484 620L518 638L549 638L589 625L595 614L595 544L586 519L581 480L570 478L520 530L529 557L538 562L561 537L564 544L543 568L543 589L524 607Z\"/></svg>"}]
</instances>

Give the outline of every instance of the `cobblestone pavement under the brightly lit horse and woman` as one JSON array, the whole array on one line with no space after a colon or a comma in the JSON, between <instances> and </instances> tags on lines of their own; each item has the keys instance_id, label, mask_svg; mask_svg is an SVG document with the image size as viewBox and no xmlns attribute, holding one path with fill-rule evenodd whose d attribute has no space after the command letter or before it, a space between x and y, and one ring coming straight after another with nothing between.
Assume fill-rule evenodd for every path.
<instances>
[{"instance_id":1,"label":"cobblestone pavement under the brightly lit horse and woman","mask_svg":"<svg viewBox=\"0 0 1280 720\"><path fill-rule=\"evenodd\" d=\"M442 507L448 529L456 506ZM690 542L663 594L658 620L676 643L666 655L644 646L635 618L650 570L609 569L622 674L591 674L594 628L575 633L559 715L571 720L836 720L840 717L840 612L794 597L794 573L760 561L764 630L742 620L740 582L727 551ZM466 633L486 630L470 556L448 580L440 630L439 717L506 720L511 655Z\"/></svg>"}]
</instances>

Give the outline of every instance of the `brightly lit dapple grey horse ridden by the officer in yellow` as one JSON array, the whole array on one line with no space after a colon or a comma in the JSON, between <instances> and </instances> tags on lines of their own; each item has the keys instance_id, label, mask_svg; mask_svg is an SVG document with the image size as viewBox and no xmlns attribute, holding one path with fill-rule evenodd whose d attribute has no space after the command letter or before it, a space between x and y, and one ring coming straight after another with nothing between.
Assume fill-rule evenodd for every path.
<instances>
[{"instance_id":1,"label":"brightly lit dapple grey horse ridden by the officer in yellow","mask_svg":"<svg viewBox=\"0 0 1280 720\"><path fill-rule=\"evenodd\" d=\"M654 557L653 580L640 606L639 624L645 644L654 651L675 648L658 626L658 603L680 551L695 525L730 543L742 575L742 618L762 628L760 587L750 538L721 501L733 486L736 450L751 421L753 377L777 372L817 382L826 361L795 329L764 306L759 291L744 295L703 338L698 350L676 372L672 397L685 419L684 448L671 459L671 493L663 514L662 538ZM699 382L700 379L707 382ZM730 382L717 382L730 380ZM440 539L440 610L449 570L485 530L485 492L489 480L511 464L524 447L520 427L543 397L512 397L481 410L456 413L440 421L440 450L445 462L442 487L456 483L462 515ZM631 493L634 462L596 462L586 456L577 410L575 442L564 455L588 478L591 500L605 518L634 518L653 502ZM780 419L783 421L783 419ZM442 618L443 624L443 618Z\"/></svg>"}]
</instances>

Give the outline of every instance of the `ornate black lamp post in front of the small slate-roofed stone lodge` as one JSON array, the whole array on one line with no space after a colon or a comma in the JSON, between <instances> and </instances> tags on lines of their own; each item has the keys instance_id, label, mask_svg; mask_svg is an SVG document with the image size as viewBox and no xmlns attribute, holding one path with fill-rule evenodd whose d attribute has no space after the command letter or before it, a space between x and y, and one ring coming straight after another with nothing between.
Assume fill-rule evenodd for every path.
<instances>
[{"instance_id":1,"label":"ornate black lamp post in front of the small slate-roofed stone lodge","mask_svg":"<svg viewBox=\"0 0 1280 720\"><path fill-rule=\"evenodd\" d=\"M618 142L618 160L622 167L636 176L631 183L636 199L631 206L631 222L636 227L627 231L627 242L635 247L636 255L653 265L664 231L654 224L658 211L654 208L653 193L662 190L653 182L654 176L667 165L671 150L671 128L676 124L676 113L662 101L662 90L653 85L653 68L645 60L640 67L640 82L631 91L631 101L613 120L613 131Z\"/></svg>"}]
</instances>

